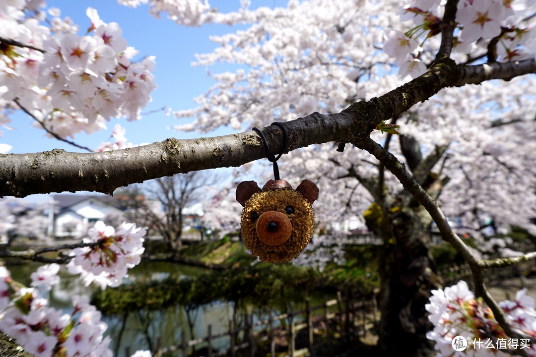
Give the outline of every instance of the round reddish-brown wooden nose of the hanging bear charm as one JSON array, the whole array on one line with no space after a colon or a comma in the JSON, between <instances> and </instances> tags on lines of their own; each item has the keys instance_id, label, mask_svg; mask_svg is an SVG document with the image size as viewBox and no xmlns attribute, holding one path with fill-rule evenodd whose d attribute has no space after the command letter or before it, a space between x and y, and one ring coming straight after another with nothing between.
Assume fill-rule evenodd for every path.
<instances>
[{"instance_id":1,"label":"round reddish-brown wooden nose of the hanging bear charm","mask_svg":"<svg viewBox=\"0 0 536 357\"><path fill-rule=\"evenodd\" d=\"M291 238L292 224L284 213L267 211L257 219L256 229L260 241L278 246Z\"/></svg>"}]
</instances>

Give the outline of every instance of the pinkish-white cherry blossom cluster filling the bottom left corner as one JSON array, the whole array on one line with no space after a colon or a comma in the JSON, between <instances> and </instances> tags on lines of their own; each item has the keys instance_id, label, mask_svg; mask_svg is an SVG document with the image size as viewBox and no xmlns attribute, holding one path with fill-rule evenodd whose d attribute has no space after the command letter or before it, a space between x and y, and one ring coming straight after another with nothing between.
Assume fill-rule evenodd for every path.
<instances>
[{"instance_id":1,"label":"pinkish-white cherry blossom cluster filling the bottom left corner","mask_svg":"<svg viewBox=\"0 0 536 357\"><path fill-rule=\"evenodd\" d=\"M38 357L111 357L108 325L87 298L73 296L74 310L64 314L48 306L38 288L59 282L58 264L43 265L32 274L32 288L21 287L0 265L0 330Z\"/></svg>"}]
</instances>

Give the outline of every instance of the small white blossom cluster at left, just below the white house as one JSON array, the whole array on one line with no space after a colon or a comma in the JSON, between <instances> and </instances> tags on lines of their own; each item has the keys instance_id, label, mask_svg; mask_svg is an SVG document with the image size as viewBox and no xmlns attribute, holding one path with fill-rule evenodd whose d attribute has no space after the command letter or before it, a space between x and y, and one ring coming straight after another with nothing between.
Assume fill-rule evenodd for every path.
<instances>
[{"instance_id":1,"label":"small white blossom cluster at left, just below the white house","mask_svg":"<svg viewBox=\"0 0 536 357\"><path fill-rule=\"evenodd\" d=\"M107 286L121 285L128 276L127 270L141 260L146 232L147 227L139 228L133 223L123 223L116 230L102 221L96 222L88 238L83 239L95 246L73 249L73 258L67 264L69 272L80 274L86 286L94 282L105 290Z\"/></svg>"}]
</instances>

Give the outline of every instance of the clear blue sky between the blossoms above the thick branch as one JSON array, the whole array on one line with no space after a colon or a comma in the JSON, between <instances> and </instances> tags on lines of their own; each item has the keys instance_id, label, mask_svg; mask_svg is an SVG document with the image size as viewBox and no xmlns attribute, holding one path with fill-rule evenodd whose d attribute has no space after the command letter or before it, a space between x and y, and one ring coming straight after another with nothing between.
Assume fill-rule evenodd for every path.
<instances>
[{"instance_id":1,"label":"clear blue sky between the blossoms above the thick branch","mask_svg":"<svg viewBox=\"0 0 536 357\"><path fill-rule=\"evenodd\" d=\"M285 6L286 0L254 0L253 6ZM155 19L148 13L148 6L137 9L122 6L115 0L48 0L49 7L58 7L62 18L69 16L80 26L80 34L84 34L90 21L86 16L87 7L93 7L105 22L117 22L123 29L123 37L130 46L139 51L138 58L156 56L157 67L153 72L158 88L152 93L153 101L143 110L149 112L162 107L173 110L188 109L195 106L193 98L205 93L214 83L206 75L204 67L191 67L196 53L211 52L215 44L209 40L213 34L234 32L235 28L224 25L209 25L187 28L176 25L164 16ZM220 0L211 2L212 6L221 11L236 10L240 7L238 0ZM213 73L223 66L211 67ZM229 67L226 67L228 70ZM10 153L33 153L54 148L67 151L84 151L67 143L46 138L44 131L31 125L32 119L24 113L11 117L10 126L14 130L2 129L1 143L11 145ZM199 136L225 135L232 132L230 128L220 128L209 134L184 133L168 130L175 124L187 123L187 119L166 117L162 111L143 116L141 120L126 121L111 119L107 123L108 130L91 135L80 133L75 136L79 145L95 149L102 141L109 141L111 130L116 123L126 128L126 138L132 143L162 141L169 137L177 139L198 138ZM69 138L70 139L70 138Z\"/></svg>"}]
</instances>

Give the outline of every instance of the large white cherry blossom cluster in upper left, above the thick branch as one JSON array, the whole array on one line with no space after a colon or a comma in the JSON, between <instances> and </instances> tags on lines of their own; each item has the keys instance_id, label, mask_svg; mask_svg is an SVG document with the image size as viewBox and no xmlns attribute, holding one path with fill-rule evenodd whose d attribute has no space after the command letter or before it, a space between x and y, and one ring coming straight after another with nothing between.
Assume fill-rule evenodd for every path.
<instances>
[{"instance_id":1,"label":"large white cherry blossom cluster in upper left, above the thick branch","mask_svg":"<svg viewBox=\"0 0 536 357\"><path fill-rule=\"evenodd\" d=\"M30 5L36 11L25 11ZM41 122L36 127L61 138L101 130L110 117L138 119L156 87L154 57L131 62L138 52L127 46L121 27L103 22L91 7L84 36L69 18L59 18L58 9L49 9L50 28L41 25L43 5L17 0L0 6L2 37L21 44L0 51L0 109L21 105ZM8 122L3 114L0 123Z\"/></svg>"}]
</instances>

